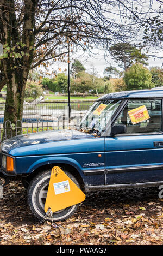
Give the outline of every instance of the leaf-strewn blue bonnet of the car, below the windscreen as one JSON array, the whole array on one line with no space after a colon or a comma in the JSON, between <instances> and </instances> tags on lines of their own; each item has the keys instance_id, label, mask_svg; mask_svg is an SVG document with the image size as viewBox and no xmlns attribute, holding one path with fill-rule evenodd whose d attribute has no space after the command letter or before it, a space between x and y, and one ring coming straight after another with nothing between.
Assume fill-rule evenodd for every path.
<instances>
[{"instance_id":1,"label":"leaf-strewn blue bonnet of the car, below the windscreen","mask_svg":"<svg viewBox=\"0 0 163 256\"><path fill-rule=\"evenodd\" d=\"M22 156L22 155L32 155L41 154L41 148L49 148L49 154L54 153L53 146L47 145L45 143L54 142L54 141L67 141L73 139L85 139L85 138L95 138L91 134L86 134L79 132L78 130L53 130L48 132L39 132L39 133L29 133L18 135L16 137L5 140L2 143L1 149L8 154L13 154L13 156ZM45 145L42 145L45 144ZM69 142L68 142L69 144ZM31 146L28 148L24 148ZM52 146L52 148L50 148ZM55 147L57 144L55 144ZM58 146L57 146L58 147ZM40 152L39 152L40 151ZM58 150L57 150L58 152ZM43 152L44 154L45 152ZM56 153L56 152L55 152Z\"/></svg>"}]
</instances>

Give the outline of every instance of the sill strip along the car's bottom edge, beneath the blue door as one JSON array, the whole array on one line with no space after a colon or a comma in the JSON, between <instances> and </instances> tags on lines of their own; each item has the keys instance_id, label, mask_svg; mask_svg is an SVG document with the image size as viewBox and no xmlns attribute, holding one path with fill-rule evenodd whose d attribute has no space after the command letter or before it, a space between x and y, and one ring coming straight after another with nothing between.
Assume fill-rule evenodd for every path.
<instances>
[{"instance_id":1,"label":"sill strip along the car's bottom edge, beneath the blue door","mask_svg":"<svg viewBox=\"0 0 163 256\"><path fill-rule=\"evenodd\" d=\"M130 183L130 184L100 185L100 186L85 186L85 191L89 192L89 191L96 191L96 190L109 190L109 189L118 189L118 188L157 187L160 184L163 184L163 181Z\"/></svg>"}]
</instances>

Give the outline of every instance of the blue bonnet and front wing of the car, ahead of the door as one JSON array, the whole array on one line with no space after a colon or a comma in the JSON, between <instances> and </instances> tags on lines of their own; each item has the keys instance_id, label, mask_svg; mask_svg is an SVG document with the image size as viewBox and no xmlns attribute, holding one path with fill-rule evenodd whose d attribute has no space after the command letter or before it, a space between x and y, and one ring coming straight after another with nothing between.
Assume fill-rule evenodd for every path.
<instances>
[{"instance_id":1,"label":"blue bonnet and front wing of the car, ahead of the door","mask_svg":"<svg viewBox=\"0 0 163 256\"><path fill-rule=\"evenodd\" d=\"M77 130L57 130L5 140L2 151L15 157L16 174L33 172L45 164L65 163L74 166L84 183L90 186L93 181L97 185L104 184L104 174L85 176L83 173L83 170L104 169L104 165L84 167L89 163L105 163L104 140ZM99 158L98 154L102 154L102 157Z\"/></svg>"}]
</instances>

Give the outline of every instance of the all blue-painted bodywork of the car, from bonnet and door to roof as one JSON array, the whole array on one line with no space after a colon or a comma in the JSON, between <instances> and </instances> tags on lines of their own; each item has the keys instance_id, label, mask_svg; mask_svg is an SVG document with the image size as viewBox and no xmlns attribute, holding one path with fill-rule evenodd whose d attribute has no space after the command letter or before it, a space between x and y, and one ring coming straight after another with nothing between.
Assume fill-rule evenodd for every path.
<instances>
[{"instance_id":1,"label":"all blue-painted bodywork of the car, from bonnet and door to roof","mask_svg":"<svg viewBox=\"0 0 163 256\"><path fill-rule=\"evenodd\" d=\"M110 93L98 100L161 97L163 90L141 90ZM95 137L78 130L55 130L5 140L1 150L15 158L15 174L30 174L43 165L65 163L76 168L85 186L98 186L163 181L163 168L131 169L163 165L163 145L154 147L155 141L163 142L163 134ZM129 170L118 173L115 168ZM104 169L113 171L95 174L96 170ZM85 170L90 174L85 175Z\"/></svg>"}]
</instances>

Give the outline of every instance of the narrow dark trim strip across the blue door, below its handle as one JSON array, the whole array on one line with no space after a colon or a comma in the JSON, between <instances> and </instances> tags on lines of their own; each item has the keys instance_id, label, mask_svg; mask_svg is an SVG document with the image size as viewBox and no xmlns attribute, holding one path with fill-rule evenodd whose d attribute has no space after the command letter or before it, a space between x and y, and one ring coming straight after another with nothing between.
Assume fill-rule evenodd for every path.
<instances>
[{"instance_id":1,"label":"narrow dark trim strip across the blue door, below its handle","mask_svg":"<svg viewBox=\"0 0 163 256\"><path fill-rule=\"evenodd\" d=\"M163 165L144 165L144 166L134 166L127 168L110 168L106 170L106 174L113 173L122 173L122 172L130 172L130 171L150 171L150 170L162 170Z\"/></svg>"}]
</instances>

